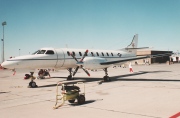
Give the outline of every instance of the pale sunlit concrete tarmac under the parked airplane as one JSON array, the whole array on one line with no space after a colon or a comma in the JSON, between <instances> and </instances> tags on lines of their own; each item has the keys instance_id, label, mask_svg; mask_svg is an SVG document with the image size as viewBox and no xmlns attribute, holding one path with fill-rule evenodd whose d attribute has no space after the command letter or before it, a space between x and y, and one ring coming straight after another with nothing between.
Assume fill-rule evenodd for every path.
<instances>
[{"instance_id":1,"label":"pale sunlit concrete tarmac under the parked airplane","mask_svg":"<svg viewBox=\"0 0 180 118\"><path fill-rule=\"evenodd\" d=\"M27 88L26 70L0 70L0 118L169 118L180 112L180 64L154 64L109 68L111 82L98 84L104 71L81 69L75 79L84 80L86 103L68 101L53 110L56 84L66 81L67 70L51 72L51 79L36 80ZM34 75L37 75L37 71Z\"/></svg>"}]
</instances>

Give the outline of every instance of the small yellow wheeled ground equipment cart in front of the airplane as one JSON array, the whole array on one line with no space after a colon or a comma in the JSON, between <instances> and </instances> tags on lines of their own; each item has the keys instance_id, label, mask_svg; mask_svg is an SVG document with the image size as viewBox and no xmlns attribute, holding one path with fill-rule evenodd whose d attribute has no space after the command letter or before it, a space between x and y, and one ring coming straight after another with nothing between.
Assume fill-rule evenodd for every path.
<instances>
[{"instance_id":1,"label":"small yellow wheeled ground equipment cart in front of the airplane","mask_svg":"<svg viewBox=\"0 0 180 118\"><path fill-rule=\"evenodd\" d=\"M81 91L80 89L84 89ZM56 104L53 107L57 109L61 107L65 101L74 103L77 100L78 104L85 103L85 84L78 80L58 82L56 88Z\"/></svg>"}]
</instances>

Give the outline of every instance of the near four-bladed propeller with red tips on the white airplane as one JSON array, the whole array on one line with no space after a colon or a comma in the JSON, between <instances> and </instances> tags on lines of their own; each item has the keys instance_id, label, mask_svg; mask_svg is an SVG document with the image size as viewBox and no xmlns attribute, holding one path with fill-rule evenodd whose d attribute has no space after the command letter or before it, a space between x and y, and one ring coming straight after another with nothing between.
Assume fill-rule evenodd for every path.
<instances>
[{"instance_id":1,"label":"near four-bladed propeller with red tips on the white airplane","mask_svg":"<svg viewBox=\"0 0 180 118\"><path fill-rule=\"evenodd\" d=\"M88 50L86 50L86 51L84 52L84 55L83 55L83 57L80 59L80 61L77 60L77 58L74 56L73 53L70 54L70 55L73 57L73 59L76 60L77 64L79 65L79 66L77 66L76 69L74 70L73 76L77 73L79 67L81 67L81 68L84 70L84 72L85 72L88 76L90 76L89 72L88 72L88 71L83 67L83 65L82 65L84 58L87 56L87 53L88 53Z\"/></svg>"}]
</instances>

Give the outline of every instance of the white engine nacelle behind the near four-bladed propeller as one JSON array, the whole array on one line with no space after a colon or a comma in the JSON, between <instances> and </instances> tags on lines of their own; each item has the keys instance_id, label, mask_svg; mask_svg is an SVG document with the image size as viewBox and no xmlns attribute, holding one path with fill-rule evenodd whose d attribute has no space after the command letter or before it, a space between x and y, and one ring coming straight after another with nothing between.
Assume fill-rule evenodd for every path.
<instances>
[{"instance_id":1,"label":"white engine nacelle behind the near four-bladed propeller","mask_svg":"<svg viewBox=\"0 0 180 118\"><path fill-rule=\"evenodd\" d=\"M101 62L106 62L107 60L99 57L86 57L83 61L83 66L86 69L103 69L110 65L101 65Z\"/></svg>"}]
</instances>

